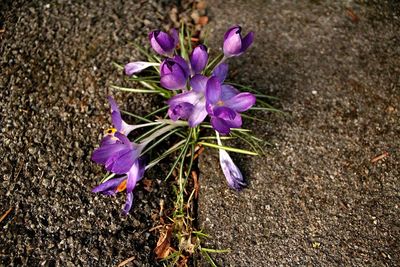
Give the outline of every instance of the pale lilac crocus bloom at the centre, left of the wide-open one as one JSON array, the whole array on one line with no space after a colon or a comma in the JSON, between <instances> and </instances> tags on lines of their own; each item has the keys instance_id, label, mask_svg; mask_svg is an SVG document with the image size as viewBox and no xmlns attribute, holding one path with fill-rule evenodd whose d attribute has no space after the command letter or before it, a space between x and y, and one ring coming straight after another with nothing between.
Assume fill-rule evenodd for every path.
<instances>
[{"instance_id":1,"label":"pale lilac crocus bloom at the centre, left of the wide-open one","mask_svg":"<svg viewBox=\"0 0 400 267\"><path fill-rule=\"evenodd\" d=\"M207 77L197 74L190 80L192 90L168 100L168 115L172 120L188 119L190 127L195 127L204 121L207 117L205 99L207 81Z\"/></svg>"}]
</instances>

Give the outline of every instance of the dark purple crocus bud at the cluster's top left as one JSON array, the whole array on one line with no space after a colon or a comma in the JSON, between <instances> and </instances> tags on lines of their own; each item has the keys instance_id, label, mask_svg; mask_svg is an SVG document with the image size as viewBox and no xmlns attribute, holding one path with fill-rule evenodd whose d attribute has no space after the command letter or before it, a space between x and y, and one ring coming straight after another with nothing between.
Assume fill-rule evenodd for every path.
<instances>
[{"instance_id":1,"label":"dark purple crocus bud at the cluster's top left","mask_svg":"<svg viewBox=\"0 0 400 267\"><path fill-rule=\"evenodd\" d=\"M149 39L154 51L160 55L172 57L178 44L179 36L176 29L172 29L170 34L157 30L149 34Z\"/></svg>"}]
</instances>

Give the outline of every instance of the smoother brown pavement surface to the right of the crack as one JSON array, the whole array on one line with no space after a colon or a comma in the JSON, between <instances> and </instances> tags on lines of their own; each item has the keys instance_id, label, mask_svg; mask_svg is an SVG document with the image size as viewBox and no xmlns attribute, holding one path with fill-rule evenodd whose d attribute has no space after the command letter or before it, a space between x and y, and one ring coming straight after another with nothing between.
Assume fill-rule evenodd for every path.
<instances>
[{"instance_id":1,"label":"smoother brown pavement surface to the right of the crack","mask_svg":"<svg viewBox=\"0 0 400 267\"><path fill-rule=\"evenodd\" d=\"M231 79L278 96L287 113L247 124L274 146L235 155L242 193L227 188L216 151L202 157L205 245L232 250L216 262L398 266L399 4L216 0L209 14L211 48L234 23L255 31L253 47L230 60Z\"/></svg>"}]
</instances>

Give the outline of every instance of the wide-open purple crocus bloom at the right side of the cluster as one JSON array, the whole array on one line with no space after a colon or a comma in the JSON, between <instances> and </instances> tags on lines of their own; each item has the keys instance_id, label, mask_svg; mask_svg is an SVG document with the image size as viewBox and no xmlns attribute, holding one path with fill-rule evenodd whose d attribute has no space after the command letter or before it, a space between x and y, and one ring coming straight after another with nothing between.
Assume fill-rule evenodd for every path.
<instances>
[{"instance_id":1,"label":"wide-open purple crocus bloom at the right side of the cluster","mask_svg":"<svg viewBox=\"0 0 400 267\"><path fill-rule=\"evenodd\" d=\"M233 86L221 84L218 77L207 82L206 109L211 117L211 125L219 133L226 135L231 128L242 126L239 112L251 108L256 98L251 93L239 93Z\"/></svg>"}]
</instances>

